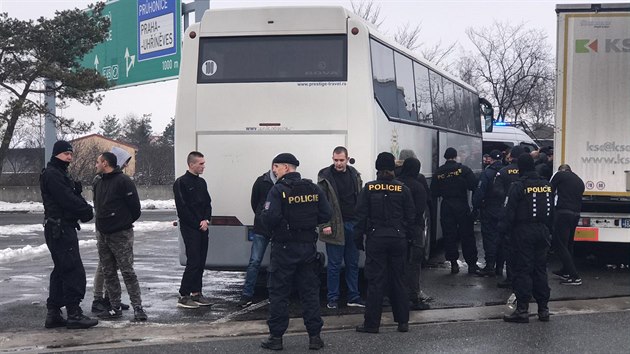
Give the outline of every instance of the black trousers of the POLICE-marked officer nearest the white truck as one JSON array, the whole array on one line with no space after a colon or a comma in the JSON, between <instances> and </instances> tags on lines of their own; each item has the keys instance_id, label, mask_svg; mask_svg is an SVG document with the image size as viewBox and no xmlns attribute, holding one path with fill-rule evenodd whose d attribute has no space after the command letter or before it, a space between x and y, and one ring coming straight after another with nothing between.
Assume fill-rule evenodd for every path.
<instances>
[{"instance_id":1,"label":"black trousers of the POLICE-marked officer nearest the white truck","mask_svg":"<svg viewBox=\"0 0 630 354\"><path fill-rule=\"evenodd\" d=\"M547 252L551 243L549 230L543 224L517 224L512 232L512 288L516 300L529 302L534 296L538 305L549 302Z\"/></svg>"}]
</instances>

